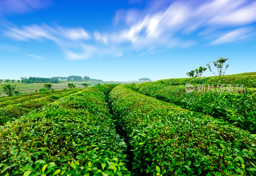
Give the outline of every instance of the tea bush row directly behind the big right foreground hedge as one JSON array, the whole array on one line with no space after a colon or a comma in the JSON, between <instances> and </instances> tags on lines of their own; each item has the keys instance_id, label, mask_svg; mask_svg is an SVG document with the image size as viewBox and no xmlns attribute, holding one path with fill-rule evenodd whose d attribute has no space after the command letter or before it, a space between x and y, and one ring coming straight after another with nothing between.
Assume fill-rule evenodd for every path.
<instances>
[{"instance_id":1,"label":"tea bush row directly behind the big right foreground hedge","mask_svg":"<svg viewBox=\"0 0 256 176\"><path fill-rule=\"evenodd\" d=\"M191 111L222 118L240 128L256 133L256 90L253 88L245 89L244 93L227 90L186 93L184 86L141 83L136 85L136 90Z\"/></svg>"}]
</instances>

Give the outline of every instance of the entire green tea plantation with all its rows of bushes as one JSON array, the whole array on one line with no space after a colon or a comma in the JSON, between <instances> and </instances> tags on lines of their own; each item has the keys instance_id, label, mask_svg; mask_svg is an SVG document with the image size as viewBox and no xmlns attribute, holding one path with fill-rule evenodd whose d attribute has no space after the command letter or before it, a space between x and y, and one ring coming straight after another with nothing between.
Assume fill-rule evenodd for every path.
<instances>
[{"instance_id":1,"label":"entire green tea plantation with all its rows of bushes","mask_svg":"<svg viewBox=\"0 0 256 176\"><path fill-rule=\"evenodd\" d=\"M255 118L256 75L4 97L0 175L253 176Z\"/></svg>"}]
</instances>

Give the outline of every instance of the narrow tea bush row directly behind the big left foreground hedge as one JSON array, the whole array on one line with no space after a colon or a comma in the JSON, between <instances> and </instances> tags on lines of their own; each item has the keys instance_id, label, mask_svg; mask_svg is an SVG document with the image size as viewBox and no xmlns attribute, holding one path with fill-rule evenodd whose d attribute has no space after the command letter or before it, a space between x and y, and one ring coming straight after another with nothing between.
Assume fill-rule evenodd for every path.
<instances>
[{"instance_id":1,"label":"narrow tea bush row directly behind the big left foreground hedge","mask_svg":"<svg viewBox=\"0 0 256 176\"><path fill-rule=\"evenodd\" d=\"M42 98L28 100L22 103L2 107L0 108L0 125L6 123L7 121L15 120L15 118L17 117L23 116L33 110L48 105L49 103L52 103L53 101L56 101L62 98L63 96L67 96L71 93L75 93L81 90L82 89L75 89L68 92L60 92L50 95L46 94L47 96L44 96Z\"/></svg>"}]
</instances>

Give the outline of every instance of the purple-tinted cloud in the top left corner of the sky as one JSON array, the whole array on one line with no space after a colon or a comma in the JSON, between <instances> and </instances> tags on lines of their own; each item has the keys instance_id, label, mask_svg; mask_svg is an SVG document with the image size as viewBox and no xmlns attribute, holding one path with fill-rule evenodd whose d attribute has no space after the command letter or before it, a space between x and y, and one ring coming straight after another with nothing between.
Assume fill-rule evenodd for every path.
<instances>
[{"instance_id":1,"label":"purple-tinted cloud in the top left corner of the sky","mask_svg":"<svg viewBox=\"0 0 256 176\"><path fill-rule=\"evenodd\" d=\"M45 9L52 5L52 0L1 0L0 16L10 13L27 13Z\"/></svg>"}]
</instances>

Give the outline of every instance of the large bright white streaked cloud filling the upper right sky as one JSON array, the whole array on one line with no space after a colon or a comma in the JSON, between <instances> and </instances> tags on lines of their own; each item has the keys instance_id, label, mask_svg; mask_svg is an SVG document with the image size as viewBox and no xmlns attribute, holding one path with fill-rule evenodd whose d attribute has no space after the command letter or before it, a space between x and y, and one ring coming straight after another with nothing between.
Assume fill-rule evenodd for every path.
<instances>
[{"instance_id":1,"label":"large bright white streaked cloud filling the upper right sky","mask_svg":"<svg viewBox=\"0 0 256 176\"><path fill-rule=\"evenodd\" d=\"M136 12L140 14L137 16L139 21L133 23L129 29L121 31L115 38L118 38L119 42L123 39L132 44L141 40L141 43L149 42L148 39L151 38L152 43L168 45L173 37L184 40L188 34L195 31L200 33L199 36L211 35L218 29L239 28L256 22L255 1L213 0L196 3L197 1L195 4L182 1L148 1L147 9ZM129 23L130 20L127 19L134 19L134 15L129 10L126 13L117 11L116 19ZM241 38L244 37L246 36ZM154 38L156 40L153 40ZM236 40L238 38L236 37ZM226 43L229 41L232 40L228 39Z\"/></svg>"}]
</instances>

